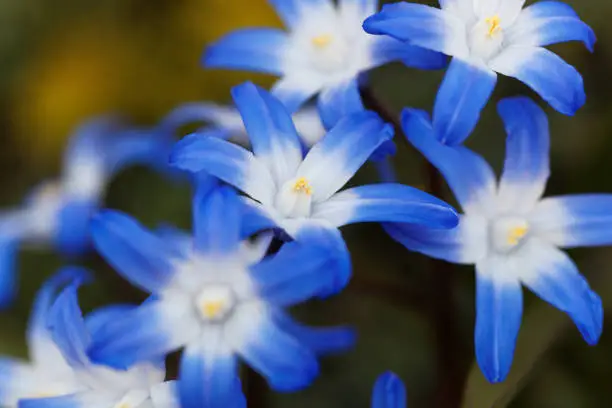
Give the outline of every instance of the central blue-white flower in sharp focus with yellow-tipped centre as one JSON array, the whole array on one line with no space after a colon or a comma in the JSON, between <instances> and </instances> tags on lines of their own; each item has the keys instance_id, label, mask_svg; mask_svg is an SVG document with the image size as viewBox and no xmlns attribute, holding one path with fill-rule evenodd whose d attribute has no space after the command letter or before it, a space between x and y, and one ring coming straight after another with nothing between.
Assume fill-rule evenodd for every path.
<instances>
[{"instance_id":1,"label":"central blue-white flower in sharp focus with yellow-tipped centre","mask_svg":"<svg viewBox=\"0 0 612 408\"><path fill-rule=\"evenodd\" d=\"M457 223L455 211L420 190L375 184L338 192L393 129L369 111L342 119L304 157L291 116L268 92L247 83L233 89L253 153L224 140L185 137L171 163L205 171L247 194L268 226L297 238L306 227L334 229L356 222L410 222L439 228ZM264 222L265 223L265 222Z\"/></svg>"}]
</instances>

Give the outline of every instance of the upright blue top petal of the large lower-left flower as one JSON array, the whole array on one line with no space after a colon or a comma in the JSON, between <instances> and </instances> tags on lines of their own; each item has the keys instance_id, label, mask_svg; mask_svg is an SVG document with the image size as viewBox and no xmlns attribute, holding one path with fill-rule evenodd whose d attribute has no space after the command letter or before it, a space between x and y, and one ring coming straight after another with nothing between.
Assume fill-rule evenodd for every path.
<instances>
[{"instance_id":1,"label":"upright blue top petal of the large lower-left flower","mask_svg":"<svg viewBox=\"0 0 612 408\"><path fill-rule=\"evenodd\" d=\"M241 237L242 201L229 186L198 189L193 199L195 248L210 256L229 255Z\"/></svg>"}]
</instances>

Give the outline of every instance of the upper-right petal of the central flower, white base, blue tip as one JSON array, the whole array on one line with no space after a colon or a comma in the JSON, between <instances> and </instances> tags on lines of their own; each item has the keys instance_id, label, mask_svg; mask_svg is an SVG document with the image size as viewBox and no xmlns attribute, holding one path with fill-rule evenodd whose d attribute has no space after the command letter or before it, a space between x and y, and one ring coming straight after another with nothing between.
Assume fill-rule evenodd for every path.
<instances>
[{"instance_id":1,"label":"upper-right petal of the central flower, white base, blue tip","mask_svg":"<svg viewBox=\"0 0 612 408\"><path fill-rule=\"evenodd\" d=\"M372 153L393 138L393 127L374 112L343 118L308 152L297 171L312 185L314 202L327 200L359 170Z\"/></svg>"}]
</instances>

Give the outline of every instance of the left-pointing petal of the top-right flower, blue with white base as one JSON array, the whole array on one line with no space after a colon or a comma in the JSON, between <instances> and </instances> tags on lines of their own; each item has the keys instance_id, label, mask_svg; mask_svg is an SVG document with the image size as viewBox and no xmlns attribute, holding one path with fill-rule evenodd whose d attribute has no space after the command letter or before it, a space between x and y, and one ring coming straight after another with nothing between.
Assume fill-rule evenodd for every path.
<instances>
[{"instance_id":1,"label":"left-pointing petal of the top-right flower, blue with white base","mask_svg":"<svg viewBox=\"0 0 612 408\"><path fill-rule=\"evenodd\" d=\"M465 24L457 16L423 4L385 4L363 23L367 33L388 35L447 55L469 55Z\"/></svg>"}]
</instances>

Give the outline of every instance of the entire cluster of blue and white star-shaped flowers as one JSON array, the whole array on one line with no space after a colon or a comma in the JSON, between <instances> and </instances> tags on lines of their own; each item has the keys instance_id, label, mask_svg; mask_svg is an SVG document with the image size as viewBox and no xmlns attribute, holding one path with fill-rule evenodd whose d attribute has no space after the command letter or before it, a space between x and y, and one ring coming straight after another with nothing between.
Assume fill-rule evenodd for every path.
<instances>
[{"instance_id":1,"label":"entire cluster of blue and white star-shaped flowers","mask_svg":"<svg viewBox=\"0 0 612 408\"><path fill-rule=\"evenodd\" d=\"M612 244L612 194L542 198L549 177L546 115L526 97L498 103L507 135L499 181L462 145L490 99L496 73L519 79L557 111L585 102L582 77L546 45L595 36L556 1L440 0L440 8L377 0L269 0L287 26L239 30L209 46L207 67L271 73L270 92L232 90L235 107L184 105L155 129L116 118L79 129L58 181L0 218L0 295L15 292L23 243L68 254L93 248L150 294L83 317L66 268L35 301L31 362L0 361L0 403L21 408L239 408L239 360L270 387L312 384L318 359L352 346L348 327L311 328L287 309L341 292L351 262L339 227L382 223L412 251L476 266L476 358L491 382L510 371L522 317L522 286L566 312L589 344L603 309L559 248ZM446 54L446 55L445 55ZM446 179L463 209L398 183L343 189L369 159L393 151L394 127L368 111L371 68L391 61L441 69L452 59L430 116L406 108L409 143ZM317 98L317 109L302 108ZM184 124L206 122L174 144ZM250 146L250 150L243 146ZM390 148L391 146L391 148ZM193 231L148 230L102 210L105 185L130 164L192 175ZM176 381L164 361L182 350ZM391 373L376 382L374 408L403 408Z\"/></svg>"}]
</instances>

